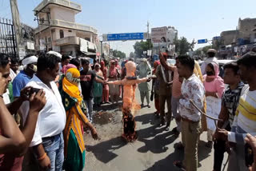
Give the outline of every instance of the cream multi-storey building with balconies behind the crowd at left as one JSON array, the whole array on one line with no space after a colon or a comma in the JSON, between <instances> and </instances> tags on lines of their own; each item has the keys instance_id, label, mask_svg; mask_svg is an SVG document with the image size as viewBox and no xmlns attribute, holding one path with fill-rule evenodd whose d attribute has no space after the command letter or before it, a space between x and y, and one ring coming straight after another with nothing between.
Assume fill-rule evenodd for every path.
<instances>
[{"instance_id":1,"label":"cream multi-storey building with balconies behind the crowd at left","mask_svg":"<svg viewBox=\"0 0 256 171\"><path fill-rule=\"evenodd\" d=\"M54 50L76 56L96 52L97 30L75 22L82 6L70 0L43 0L35 9L38 28L35 30L36 50ZM94 53L91 53L94 52Z\"/></svg>"}]
</instances>

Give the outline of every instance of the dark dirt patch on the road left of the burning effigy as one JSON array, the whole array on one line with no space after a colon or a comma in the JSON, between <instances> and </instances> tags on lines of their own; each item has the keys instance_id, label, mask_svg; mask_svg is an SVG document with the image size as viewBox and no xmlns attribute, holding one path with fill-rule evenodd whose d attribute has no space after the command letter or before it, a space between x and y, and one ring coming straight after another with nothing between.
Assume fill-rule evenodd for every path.
<instances>
[{"instance_id":1,"label":"dark dirt patch on the road left of the burning effigy","mask_svg":"<svg viewBox=\"0 0 256 171\"><path fill-rule=\"evenodd\" d=\"M113 121L113 116L114 116L114 113L98 112L94 114L93 121L94 121L94 124L106 125L111 121Z\"/></svg>"}]
</instances>

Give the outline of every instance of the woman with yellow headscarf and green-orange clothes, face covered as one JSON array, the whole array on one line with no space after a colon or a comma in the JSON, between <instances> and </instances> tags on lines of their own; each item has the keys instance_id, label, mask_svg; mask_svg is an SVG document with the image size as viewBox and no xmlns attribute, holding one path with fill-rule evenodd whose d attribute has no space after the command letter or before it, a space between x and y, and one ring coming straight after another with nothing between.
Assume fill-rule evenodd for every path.
<instances>
[{"instance_id":1,"label":"woman with yellow headscarf and green-orange clothes, face covered","mask_svg":"<svg viewBox=\"0 0 256 171\"><path fill-rule=\"evenodd\" d=\"M79 78L79 71L70 68L66 71L65 78L59 85L62 103L66 109L66 126L63 131L65 156L63 169L66 171L82 171L85 165L86 149L82 136L81 122L90 128L94 139L98 138L96 129L86 118L86 109L82 107L82 97L78 89Z\"/></svg>"}]
</instances>

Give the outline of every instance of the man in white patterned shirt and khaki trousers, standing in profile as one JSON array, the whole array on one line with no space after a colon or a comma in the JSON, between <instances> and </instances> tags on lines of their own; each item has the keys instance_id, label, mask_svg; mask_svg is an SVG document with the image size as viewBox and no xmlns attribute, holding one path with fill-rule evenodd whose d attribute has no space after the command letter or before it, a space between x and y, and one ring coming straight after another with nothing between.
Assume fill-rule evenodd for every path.
<instances>
[{"instance_id":1,"label":"man in white patterned shirt and khaki trousers, standing in profile","mask_svg":"<svg viewBox=\"0 0 256 171\"><path fill-rule=\"evenodd\" d=\"M194 59L190 56L177 58L178 74L185 78L182 83L182 97L179 100L179 111L182 117L182 144L185 146L185 158L182 161L174 161L174 165L187 171L195 171L198 168L198 137L201 133L201 113L190 103L199 109L203 108L205 89L200 79L193 74Z\"/></svg>"}]
</instances>

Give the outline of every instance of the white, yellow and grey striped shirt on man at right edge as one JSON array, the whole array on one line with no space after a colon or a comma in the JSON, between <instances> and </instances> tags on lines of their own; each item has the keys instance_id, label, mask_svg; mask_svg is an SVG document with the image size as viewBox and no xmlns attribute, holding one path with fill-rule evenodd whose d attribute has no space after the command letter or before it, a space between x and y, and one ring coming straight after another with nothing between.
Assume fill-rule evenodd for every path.
<instances>
[{"instance_id":1,"label":"white, yellow and grey striped shirt on man at right edge","mask_svg":"<svg viewBox=\"0 0 256 171\"><path fill-rule=\"evenodd\" d=\"M246 133L256 135L256 90L246 89L240 97L228 140L243 144Z\"/></svg>"}]
</instances>

